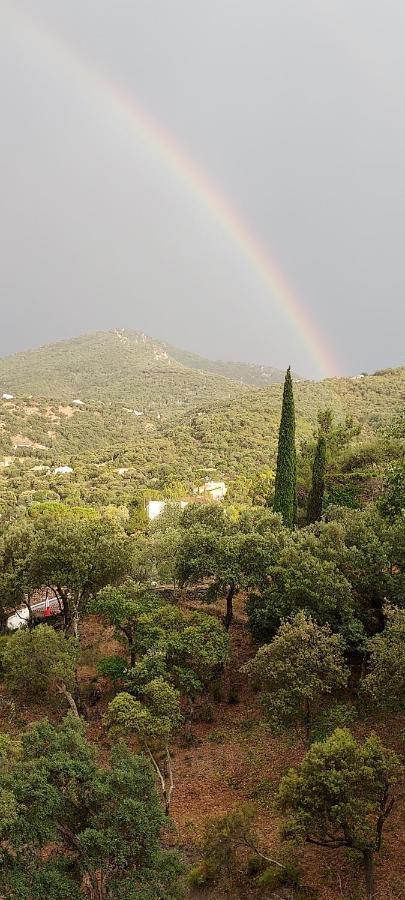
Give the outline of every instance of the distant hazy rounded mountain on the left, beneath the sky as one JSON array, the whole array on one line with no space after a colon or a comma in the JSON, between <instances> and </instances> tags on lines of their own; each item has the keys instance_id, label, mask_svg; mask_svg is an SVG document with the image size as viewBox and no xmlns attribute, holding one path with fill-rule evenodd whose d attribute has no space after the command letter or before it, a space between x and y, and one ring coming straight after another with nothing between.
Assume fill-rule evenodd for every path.
<instances>
[{"instance_id":1,"label":"distant hazy rounded mountain on the left, beneath the sky","mask_svg":"<svg viewBox=\"0 0 405 900\"><path fill-rule=\"evenodd\" d=\"M110 399L144 409L225 399L281 383L271 366L213 361L143 332L114 329L0 358L0 391L44 399ZM82 395L82 396L81 396Z\"/></svg>"}]
</instances>

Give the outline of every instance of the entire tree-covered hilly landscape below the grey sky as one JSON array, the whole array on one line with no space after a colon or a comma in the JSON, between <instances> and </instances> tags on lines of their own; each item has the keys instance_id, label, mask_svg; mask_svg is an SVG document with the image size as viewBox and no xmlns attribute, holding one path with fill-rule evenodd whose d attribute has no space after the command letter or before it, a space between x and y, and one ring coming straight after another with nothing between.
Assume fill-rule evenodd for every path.
<instances>
[{"instance_id":1,"label":"entire tree-covered hilly landscape below the grey sky","mask_svg":"<svg viewBox=\"0 0 405 900\"><path fill-rule=\"evenodd\" d=\"M204 363L1 363L7 900L405 896L405 370Z\"/></svg>"}]
</instances>

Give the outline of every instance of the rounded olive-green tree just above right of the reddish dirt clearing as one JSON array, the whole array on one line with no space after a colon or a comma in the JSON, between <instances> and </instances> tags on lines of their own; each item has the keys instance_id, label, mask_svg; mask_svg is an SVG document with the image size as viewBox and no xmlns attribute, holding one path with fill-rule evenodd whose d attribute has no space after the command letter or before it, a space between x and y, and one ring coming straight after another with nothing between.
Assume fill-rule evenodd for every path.
<instances>
[{"instance_id":1,"label":"rounded olive-green tree just above right of the reddish dirt clearing","mask_svg":"<svg viewBox=\"0 0 405 900\"><path fill-rule=\"evenodd\" d=\"M244 671L260 687L273 726L302 723L307 737L322 702L344 688L349 675L339 635L302 611L281 624L271 644L261 647Z\"/></svg>"}]
</instances>

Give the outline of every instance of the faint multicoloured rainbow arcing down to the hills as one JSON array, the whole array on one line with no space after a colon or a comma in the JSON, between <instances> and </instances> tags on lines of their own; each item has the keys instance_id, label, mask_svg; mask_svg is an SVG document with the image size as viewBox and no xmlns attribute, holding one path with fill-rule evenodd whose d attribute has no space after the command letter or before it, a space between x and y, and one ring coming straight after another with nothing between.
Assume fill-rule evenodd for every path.
<instances>
[{"instance_id":1,"label":"faint multicoloured rainbow arcing down to the hills","mask_svg":"<svg viewBox=\"0 0 405 900\"><path fill-rule=\"evenodd\" d=\"M332 352L311 321L303 302L298 300L289 286L280 267L270 258L232 203L187 156L173 135L158 125L132 94L126 93L92 62L84 59L59 34L51 30L47 23L33 18L16 6L12 7L12 15L18 17L18 24L26 30L30 46L39 42L42 54L47 49L53 57L51 62L59 67L65 66L68 75L72 76L73 73L81 84L85 84L88 92L93 92L103 114L106 108L109 109L112 118L118 118L122 127L130 129L136 140L143 142L148 152L155 154L166 168L175 173L179 183L214 217L264 283L271 300L277 303L299 334L319 376L337 375L339 367Z\"/></svg>"}]
</instances>

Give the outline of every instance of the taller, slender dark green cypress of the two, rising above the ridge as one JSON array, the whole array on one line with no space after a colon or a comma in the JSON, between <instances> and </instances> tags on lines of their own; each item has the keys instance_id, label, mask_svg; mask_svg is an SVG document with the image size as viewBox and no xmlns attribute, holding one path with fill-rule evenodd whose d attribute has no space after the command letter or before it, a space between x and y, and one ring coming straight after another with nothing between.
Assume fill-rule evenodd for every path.
<instances>
[{"instance_id":1,"label":"taller, slender dark green cypress of the two, rising above the ridge","mask_svg":"<svg viewBox=\"0 0 405 900\"><path fill-rule=\"evenodd\" d=\"M289 366L284 381L274 491L275 512L281 513L284 525L288 528L295 524L297 511L296 469L294 394Z\"/></svg>"}]
</instances>

